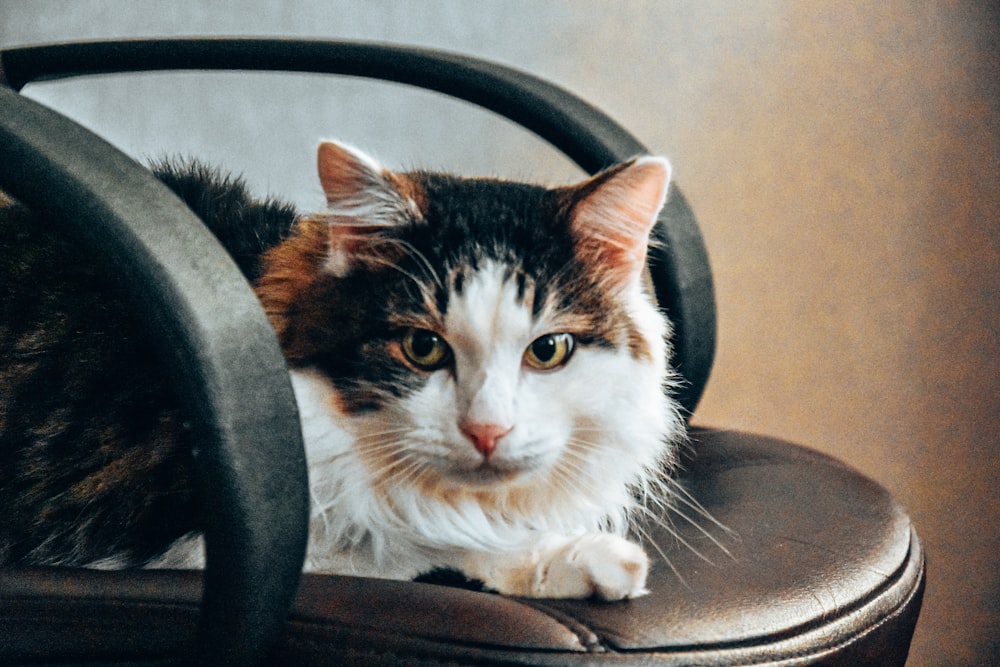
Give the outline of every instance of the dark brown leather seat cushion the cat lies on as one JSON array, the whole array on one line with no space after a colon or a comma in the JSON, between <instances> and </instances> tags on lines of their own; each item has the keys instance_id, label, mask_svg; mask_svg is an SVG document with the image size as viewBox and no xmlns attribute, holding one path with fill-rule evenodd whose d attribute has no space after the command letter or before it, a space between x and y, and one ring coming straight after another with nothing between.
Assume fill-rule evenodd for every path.
<instances>
[{"instance_id":1,"label":"dark brown leather seat cushion the cat lies on","mask_svg":"<svg viewBox=\"0 0 1000 667\"><path fill-rule=\"evenodd\" d=\"M687 512L663 528L648 596L522 600L434 584L306 575L274 664L903 664L924 559L880 486L780 440L696 429ZM728 553L727 553L728 552ZM193 641L200 576L0 572L0 663L143 662Z\"/></svg>"}]
</instances>

